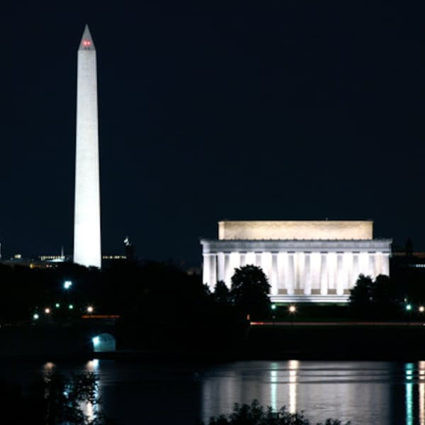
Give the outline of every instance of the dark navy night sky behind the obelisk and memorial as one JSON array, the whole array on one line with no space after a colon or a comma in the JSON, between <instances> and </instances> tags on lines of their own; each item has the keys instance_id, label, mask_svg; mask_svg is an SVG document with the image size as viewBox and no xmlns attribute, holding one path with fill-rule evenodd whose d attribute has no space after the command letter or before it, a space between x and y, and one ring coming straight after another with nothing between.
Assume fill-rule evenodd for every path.
<instances>
[{"instance_id":1,"label":"dark navy night sky behind the obelisk and memorial","mask_svg":"<svg viewBox=\"0 0 425 425\"><path fill-rule=\"evenodd\" d=\"M373 219L425 249L425 5L383 3L4 7L2 254L72 252L86 22L103 254L129 235L142 258L199 263L225 218Z\"/></svg>"}]
</instances>

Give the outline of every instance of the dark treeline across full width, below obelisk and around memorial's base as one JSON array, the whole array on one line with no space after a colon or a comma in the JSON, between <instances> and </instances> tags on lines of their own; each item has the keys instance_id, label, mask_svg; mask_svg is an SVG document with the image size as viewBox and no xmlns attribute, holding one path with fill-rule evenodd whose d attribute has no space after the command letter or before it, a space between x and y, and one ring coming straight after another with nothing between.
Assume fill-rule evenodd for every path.
<instances>
[{"instance_id":1,"label":"dark treeline across full width, below obelisk and around memorial's base","mask_svg":"<svg viewBox=\"0 0 425 425\"><path fill-rule=\"evenodd\" d=\"M246 314L251 319L272 314L288 318L285 309L271 311L268 298L262 296L269 285L257 269L238 269L231 290L218 282L211 294L199 275L188 274L172 263L122 261L102 270L72 263L52 268L0 264L0 323L33 323L34 314L39 315L39 323L74 319L86 314L89 305L94 307L92 314L119 314L121 322L128 324L173 322L188 327L191 323L196 326L244 319ZM247 285L249 278L261 285ZM67 280L72 282L69 289L64 288ZM399 261L393 263L390 278L358 279L351 291L351 308L342 311L341 307L328 306L320 312L304 305L293 319L328 314L389 318L402 313L407 303L412 303L413 314L419 305L425 305L424 288L425 268L412 268ZM44 313L47 307L51 310L48 316Z\"/></svg>"}]
</instances>

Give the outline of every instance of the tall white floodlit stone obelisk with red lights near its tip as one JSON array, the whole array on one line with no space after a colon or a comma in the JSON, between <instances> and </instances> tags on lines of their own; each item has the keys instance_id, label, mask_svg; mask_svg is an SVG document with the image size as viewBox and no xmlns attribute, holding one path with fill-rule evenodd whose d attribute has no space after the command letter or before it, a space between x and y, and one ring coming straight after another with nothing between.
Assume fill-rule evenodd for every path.
<instances>
[{"instance_id":1,"label":"tall white floodlit stone obelisk with red lights near its tip","mask_svg":"<svg viewBox=\"0 0 425 425\"><path fill-rule=\"evenodd\" d=\"M84 28L77 64L74 263L101 267L96 49Z\"/></svg>"}]
</instances>

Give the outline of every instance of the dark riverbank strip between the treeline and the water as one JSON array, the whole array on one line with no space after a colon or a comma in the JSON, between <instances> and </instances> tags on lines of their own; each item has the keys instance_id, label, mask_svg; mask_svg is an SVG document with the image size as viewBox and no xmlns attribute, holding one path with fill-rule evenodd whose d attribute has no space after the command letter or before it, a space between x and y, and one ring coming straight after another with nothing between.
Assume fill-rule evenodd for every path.
<instances>
[{"instance_id":1,"label":"dark riverbank strip between the treeline and the water","mask_svg":"<svg viewBox=\"0 0 425 425\"><path fill-rule=\"evenodd\" d=\"M182 329L181 329L182 331ZM151 331L154 334L154 330ZM400 360L425 358L423 322L253 322L233 339L215 329L164 337L161 344L120 344L95 352L91 329L1 329L1 358L111 358L117 361ZM211 336L211 338L209 338Z\"/></svg>"}]
</instances>

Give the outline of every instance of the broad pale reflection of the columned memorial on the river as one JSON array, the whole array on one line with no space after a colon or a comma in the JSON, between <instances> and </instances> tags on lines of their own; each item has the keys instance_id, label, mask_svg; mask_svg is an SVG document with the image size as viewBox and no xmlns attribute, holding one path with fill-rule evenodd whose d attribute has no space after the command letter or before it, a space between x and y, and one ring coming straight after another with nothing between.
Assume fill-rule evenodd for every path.
<instances>
[{"instance_id":1,"label":"broad pale reflection of the columned memorial on the river","mask_svg":"<svg viewBox=\"0 0 425 425\"><path fill-rule=\"evenodd\" d=\"M364 409L362 421L353 423L387 425L390 364L290 360L222 365L203 376L202 417L208 421L210 416L231 412L234 403L258 399L275 411L283 406L291 413L304 410L312 421L353 420Z\"/></svg>"}]
</instances>

